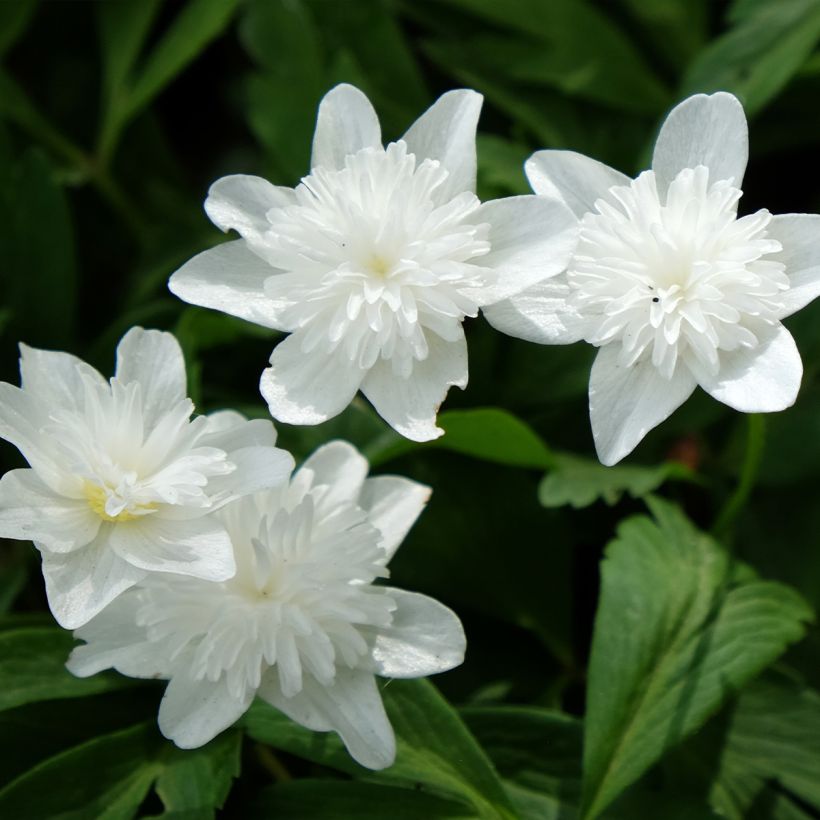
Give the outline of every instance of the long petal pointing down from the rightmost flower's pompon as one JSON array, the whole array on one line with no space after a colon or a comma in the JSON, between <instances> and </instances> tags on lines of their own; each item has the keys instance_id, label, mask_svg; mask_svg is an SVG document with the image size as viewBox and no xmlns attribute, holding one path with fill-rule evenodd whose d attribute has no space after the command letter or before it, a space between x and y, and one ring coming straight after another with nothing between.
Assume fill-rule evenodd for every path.
<instances>
[{"instance_id":1,"label":"long petal pointing down from the rightmost flower's pompon","mask_svg":"<svg viewBox=\"0 0 820 820\"><path fill-rule=\"evenodd\" d=\"M602 464L629 455L641 439L667 419L695 389L695 378L682 366L664 379L647 360L623 367L619 346L602 347L589 379L589 417Z\"/></svg>"}]
</instances>

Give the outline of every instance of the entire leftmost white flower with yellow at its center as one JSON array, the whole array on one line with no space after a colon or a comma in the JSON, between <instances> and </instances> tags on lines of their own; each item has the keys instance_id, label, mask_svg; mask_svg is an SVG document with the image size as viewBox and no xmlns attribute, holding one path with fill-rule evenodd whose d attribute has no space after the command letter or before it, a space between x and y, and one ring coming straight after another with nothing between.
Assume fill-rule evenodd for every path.
<instances>
[{"instance_id":1,"label":"entire leftmost white flower with yellow at its center","mask_svg":"<svg viewBox=\"0 0 820 820\"><path fill-rule=\"evenodd\" d=\"M271 422L191 420L170 333L128 331L110 382L68 353L20 349L22 388L0 383L0 437L31 468L0 480L0 537L34 541L57 621L81 626L151 572L230 578L211 513L287 481L293 459Z\"/></svg>"}]
</instances>

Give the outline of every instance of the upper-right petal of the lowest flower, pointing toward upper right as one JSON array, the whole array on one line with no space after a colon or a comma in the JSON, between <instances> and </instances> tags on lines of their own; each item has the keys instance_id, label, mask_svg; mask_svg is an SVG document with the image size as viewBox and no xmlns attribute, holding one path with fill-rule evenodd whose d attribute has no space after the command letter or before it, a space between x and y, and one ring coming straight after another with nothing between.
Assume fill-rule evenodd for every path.
<instances>
[{"instance_id":1,"label":"upper-right petal of the lowest flower, pointing toward upper right","mask_svg":"<svg viewBox=\"0 0 820 820\"><path fill-rule=\"evenodd\" d=\"M376 476L364 482L359 506L382 534L379 545L388 561L421 515L431 492L426 485L400 476Z\"/></svg>"}]
</instances>

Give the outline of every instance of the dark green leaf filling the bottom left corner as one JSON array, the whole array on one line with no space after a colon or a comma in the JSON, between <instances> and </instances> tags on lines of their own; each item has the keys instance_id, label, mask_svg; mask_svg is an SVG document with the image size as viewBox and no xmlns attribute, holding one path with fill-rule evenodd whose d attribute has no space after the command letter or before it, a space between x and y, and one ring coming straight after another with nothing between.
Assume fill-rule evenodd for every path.
<instances>
[{"instance_id":1,"label":"dark green leaf filling the bottom left corner","mask_svg":"<svg viewBox=\"0 0 820 820\"><path fill-rule=\"evenodd\" d=\"M161 771L159 744L142 724L69 749L0 790L0 816L130 820Z\"/></svg>"}]
</instances>

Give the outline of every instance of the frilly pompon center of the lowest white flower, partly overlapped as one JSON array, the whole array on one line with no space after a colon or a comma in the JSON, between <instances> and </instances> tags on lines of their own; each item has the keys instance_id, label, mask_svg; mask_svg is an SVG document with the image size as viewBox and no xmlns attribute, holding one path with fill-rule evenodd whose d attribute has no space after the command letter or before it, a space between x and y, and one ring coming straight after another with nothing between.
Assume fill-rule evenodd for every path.
<instances>
[{"instance_id":1,"label":"frilly pompon center of the lowest white flower, partly overlapped","mask_svg":"<svg viewBox=\"0 0 820 820\"><path fill-rule=\"evenodd\" d=\"M259 521L258 512L237 509L239 523L229 526L236 576L219 591L194 579L149 580L140 624L172 661L184 655L195 679L224 675L237 698L268 670L286 697L302 690L305 675L332 684L337 666L355 668L367 653L361 628L392 621L394 600L372 585L389 574L378 532L357 507L319 515L307 495L243 537L240 519Z\"/></svg>"}]
</instances>

